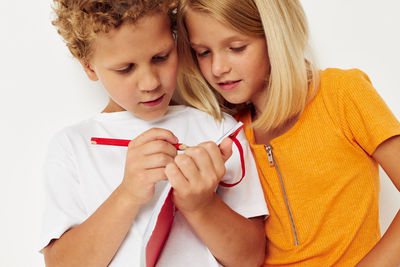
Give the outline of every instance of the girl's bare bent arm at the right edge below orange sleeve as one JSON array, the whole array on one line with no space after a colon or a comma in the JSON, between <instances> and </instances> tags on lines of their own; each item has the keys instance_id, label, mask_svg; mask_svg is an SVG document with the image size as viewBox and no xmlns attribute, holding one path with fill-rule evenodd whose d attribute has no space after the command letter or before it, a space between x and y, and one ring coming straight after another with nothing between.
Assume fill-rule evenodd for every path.
<instances>
[{"instance_id":1,"label":"girl's bare bent arm at the right edge below orange sleeve","mask_svg":"<svg viewBox=\"0 0 400 267\"><path fill-rule=\"evenodd\" d=\"M378 146L372 157L381 165L400 191L400 136ZM400 212L398 211L382 239L357 266L400 266Z\"/></svg>"}]
</instances>

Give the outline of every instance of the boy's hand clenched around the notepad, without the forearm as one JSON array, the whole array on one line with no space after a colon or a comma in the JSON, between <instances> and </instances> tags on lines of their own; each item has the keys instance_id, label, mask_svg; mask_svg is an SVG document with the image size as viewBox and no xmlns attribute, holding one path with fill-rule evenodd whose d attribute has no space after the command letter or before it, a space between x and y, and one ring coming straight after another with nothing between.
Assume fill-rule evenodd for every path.
<instances>
[{"instance_id":1,"label":"boy's hand clenched around the notepad, without the forearm","mask_svg":"<svg viewBox=\"0 0 400 267\"><path fill-rule=\"evenodd\" d=\"M231 154L232 141L226 138L219 147L214 142L190 147L167 165L165 173L180 211L206 210L216 196L215 190L225 174L224 163Z\"/></svg>"}]
</instances>

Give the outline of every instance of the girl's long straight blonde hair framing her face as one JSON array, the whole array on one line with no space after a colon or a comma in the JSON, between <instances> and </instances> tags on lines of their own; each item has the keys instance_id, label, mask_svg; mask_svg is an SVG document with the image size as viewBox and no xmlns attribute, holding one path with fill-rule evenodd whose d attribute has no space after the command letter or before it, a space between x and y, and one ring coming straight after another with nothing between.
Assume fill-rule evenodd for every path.
<instances>
[{"instance_id":1,"label":"girl's long straight blonde hair framing her face","mask_svg":"<svg viewBox=\"0 0 400 267\"><path fill-rule=\"evenodd\" d=\"M227 103L202 76L185 26L188 9L206 12L243 34L265 37L271 71L266 77L264 109L254 127L274 129L304 111L318 89L319 71L308 50L307 20L298 0L180 1L177 18L179 92L188 104L220 120L221 111L234 113L238 106ZM265 64L268 64L267 59Z\"/></svg>"}]
</instances>

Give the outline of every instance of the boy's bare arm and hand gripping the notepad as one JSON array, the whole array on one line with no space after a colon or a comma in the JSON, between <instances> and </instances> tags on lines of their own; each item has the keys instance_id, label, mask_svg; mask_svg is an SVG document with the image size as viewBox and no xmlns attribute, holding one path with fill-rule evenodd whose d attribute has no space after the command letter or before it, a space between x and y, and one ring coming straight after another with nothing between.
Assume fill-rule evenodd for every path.
<instances>
[{"instance_id":1,"label":"boy's bare arm and hand gripping the notepad","mask_svg":"<svg viewBox=\"0 0 400 267\"><path fill-rule=\"evenodd\" d=\"M239 215L215 193L231 146L225 139L220 147L207 142L189 148L167 165L166 174L178 210L221 264L260 266L266 244L263 218Z\"/></svg>"}]
</instances>

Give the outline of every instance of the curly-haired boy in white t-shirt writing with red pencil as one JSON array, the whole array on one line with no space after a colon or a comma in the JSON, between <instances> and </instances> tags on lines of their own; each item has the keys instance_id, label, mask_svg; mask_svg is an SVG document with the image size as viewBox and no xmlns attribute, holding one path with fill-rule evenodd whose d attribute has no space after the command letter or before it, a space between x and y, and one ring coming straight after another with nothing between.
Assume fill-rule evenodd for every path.
<instances>
[{"instance_id":1,"label":"curly-haired boy in white t-shirt writing with red pencil","mask_svg":"<svg viewBox=\"0 0 400 267\"><path fill-rule=\"evenodd\" d=\"M205 141L236 122L168 106L177 73L175 5L55 0L53 24L89 79L101 81L109 103L50 144L41 241L48 266L141 265L143 235L165 180L178 211L158 266L253 266L264 258L267 209L243 134L246 176L215 191L221 179L239 180L241 165L233 154L224 176L231 143ZM92 136L132 141L128 148L96 146ZM194 147L177 155L178 138Z\"/></svg>"}]
</instances>

